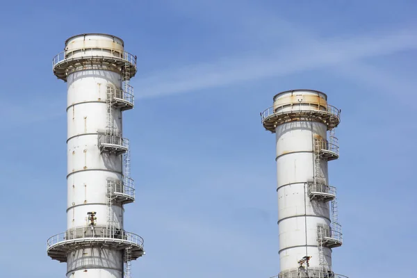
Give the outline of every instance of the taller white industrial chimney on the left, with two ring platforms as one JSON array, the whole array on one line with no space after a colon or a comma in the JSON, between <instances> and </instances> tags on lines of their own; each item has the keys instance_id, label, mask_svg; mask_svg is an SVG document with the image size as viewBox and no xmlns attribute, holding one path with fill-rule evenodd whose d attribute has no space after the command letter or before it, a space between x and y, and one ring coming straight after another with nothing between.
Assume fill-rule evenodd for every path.
<instances>
[{"instance_id":1,"label":"taller white industrial chimney on the left, with two ring platforms","mask_svg":"<svg viewBox=\"0 0 417 278\"><path fill-rule=\"evenodd\" d=\"M133 108L136 56L114 35L75 35L53 69L67 82L67 230L49 238L48 256L67 263L67 278L130 278L145 254L123 228L135 200L122 111Z\"/></svg>"}]
</instances>

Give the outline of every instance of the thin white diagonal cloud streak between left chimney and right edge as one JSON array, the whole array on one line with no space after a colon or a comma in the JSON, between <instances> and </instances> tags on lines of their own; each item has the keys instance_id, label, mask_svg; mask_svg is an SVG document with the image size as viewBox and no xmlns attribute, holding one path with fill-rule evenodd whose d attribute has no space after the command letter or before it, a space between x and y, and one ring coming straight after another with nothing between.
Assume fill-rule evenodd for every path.
<instances>
[{"instance_id":1,"label":"thin white diagonal cloud streak between left chimney and right edge","mask_svg":"<svg viewBox=\"0 0 417 278\"><path fill-rule=\"evenodd\" d=\"M389 33L323 40L320 43L295 43L268 55L224 58L213 63L156 72L136 82L142 91L140 97L152 98L269 76L284 76L416 48L414 31L406 28Z\"/></svg>"}]
</instances>

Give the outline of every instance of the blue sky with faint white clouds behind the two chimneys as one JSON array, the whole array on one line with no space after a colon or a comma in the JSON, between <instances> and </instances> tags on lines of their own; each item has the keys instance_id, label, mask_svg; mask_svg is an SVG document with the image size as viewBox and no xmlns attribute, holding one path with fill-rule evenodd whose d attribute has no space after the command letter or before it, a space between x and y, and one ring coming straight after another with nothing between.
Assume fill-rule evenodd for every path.
<instances>
[{"instance_id":1,"label":"blue sky with faint white clouds behind the two chimneys","mask_svg":"<svg viewBox=\"0 0 417 278\"><path fill-rule=\"evenodd\" d=\"M0 269L64 277L46 254L66 228L66 85L51 60L78 33L138 56L125 113L145 238L133 277L279 272L275 136L259 112L311 88L342 109L330 163L349 277L409 275L417 247L415 1L10 1L0 10Z\"/></svg>"}]
</instances>

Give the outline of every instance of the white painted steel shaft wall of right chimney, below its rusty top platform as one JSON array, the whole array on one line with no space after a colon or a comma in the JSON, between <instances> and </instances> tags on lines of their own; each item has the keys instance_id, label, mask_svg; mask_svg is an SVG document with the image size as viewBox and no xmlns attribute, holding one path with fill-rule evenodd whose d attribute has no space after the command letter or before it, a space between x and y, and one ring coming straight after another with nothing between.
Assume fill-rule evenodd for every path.
<instances>
[{"instance_id":1,"label":"white painted steel shaft wall of right chimney, below its rusty top platform","mask_svg":"<svg viewBox=\"0 0 417 278\"><path fill-rule=\"evenodd\" d=\"M329 204L310 201L307 181L313 179L313 140L326 138L326 132L319 122L288 122L276 129L281 271L297 268L303 256L311 256L310 265L319 267L317 226L330 224ZM321 166L327 177L327 162ZM331 265L332 251L324 252Z\"/></svg>"}]
</instances>

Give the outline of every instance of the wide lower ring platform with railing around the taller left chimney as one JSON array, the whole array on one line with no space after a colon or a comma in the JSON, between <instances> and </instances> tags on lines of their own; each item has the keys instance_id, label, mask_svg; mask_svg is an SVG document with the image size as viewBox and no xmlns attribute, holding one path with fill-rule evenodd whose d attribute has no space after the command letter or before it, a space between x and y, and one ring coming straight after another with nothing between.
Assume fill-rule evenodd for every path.
<instances>
[{"instance_id":1,"label":"wide lower ring platform with railing around the taller left chimney","mask_svg":"<svg viewBox=\"0 0 417 278\"><path fill-rule=\"evenodd\" d=\"M115 250L131 248L131 259L136 260L145 254L143 238L123 230L82 227L51 236L47 241L48 256L64 263L68 252L79 250L80 247L111 247Z\"/></svg>"}]
</instances>

